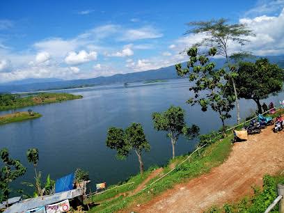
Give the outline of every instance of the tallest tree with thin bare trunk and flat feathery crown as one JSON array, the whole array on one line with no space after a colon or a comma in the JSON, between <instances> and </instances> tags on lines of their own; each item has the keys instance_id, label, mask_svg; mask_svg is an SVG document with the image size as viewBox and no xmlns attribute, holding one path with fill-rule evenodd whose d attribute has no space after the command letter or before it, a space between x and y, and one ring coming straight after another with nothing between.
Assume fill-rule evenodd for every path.
<instances>
[{"instance_id":1,"label":"tallest tree with thin bare trunk and flat feathery crown","mask_svg":"<svg viewBox=\"0 0 284 213\"><path fill-rule=\"evenodd\" d=\"M191 27L188 33L205 33L206 38L201 42L196 43L196 47L205 46L205 47L216 47L216 54L221 55L226 58L227 63L227 72L234 72L234 69L231 69L232 65L230 64L230 53L228 51L228 44L237 44L243 46L248 42L246 39L247 36L254 36L251 30L246 28L245 24L228 24L228 19L212 19L207 22L189 22L188 25ZM236 56L248 56L247 52L237 52ZM234 54L231 55L232 57ZM231 73L230 76L232 81L232 86L235 93L235 103L237 107L237 123L240 122L239 116L239 101L237 97L237 88L235 86L234 77L235 73Z\"/></svg>"}]
</instances>

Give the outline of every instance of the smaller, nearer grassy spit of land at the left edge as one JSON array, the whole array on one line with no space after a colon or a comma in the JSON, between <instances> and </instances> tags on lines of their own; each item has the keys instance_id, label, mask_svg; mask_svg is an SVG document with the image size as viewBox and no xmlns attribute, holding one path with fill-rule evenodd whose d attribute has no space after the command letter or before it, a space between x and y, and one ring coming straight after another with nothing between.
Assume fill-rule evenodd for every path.
<instances>
[{"instance_id":1,"label":"smaller, nearer grassy spit of land at the left edge","mask_svg":"<svg viewBox=\"0 0 284 213\"><path fill-rule=\"evenodd\" d=\"M32 112L30 114L27 111L11 113L4 116L0 116L0 125L34 119L34 118L40 118L41 116L42 115L40 113Z\"/></svg>"}]
</instances>

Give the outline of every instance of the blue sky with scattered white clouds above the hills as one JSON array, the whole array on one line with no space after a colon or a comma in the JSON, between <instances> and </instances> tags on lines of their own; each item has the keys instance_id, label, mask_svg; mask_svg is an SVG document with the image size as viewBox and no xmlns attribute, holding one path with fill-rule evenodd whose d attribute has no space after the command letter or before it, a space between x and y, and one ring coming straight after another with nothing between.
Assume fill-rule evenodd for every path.
<instances>
[{"instance_id":1,"label":"blue sky with scattered white clouds above the hills","mask_svg":"<svg viewBox=\"0 0 284 213\"><path fill-rule=\"evenodd\" d=\"M245 23L253 54L284 54L284 0L0 1L0 83L86 79L157 69L204 35L187 22L226 17ZM234 51L239 47L230 45Z\"/></svg>"}]
</instances>

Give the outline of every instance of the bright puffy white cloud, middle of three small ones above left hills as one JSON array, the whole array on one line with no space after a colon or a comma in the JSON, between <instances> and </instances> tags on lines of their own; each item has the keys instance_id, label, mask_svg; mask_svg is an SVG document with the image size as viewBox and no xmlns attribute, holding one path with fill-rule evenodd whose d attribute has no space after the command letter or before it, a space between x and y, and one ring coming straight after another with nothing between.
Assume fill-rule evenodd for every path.
<instances>
[{"instance_id":1,"label":"bright puffy white cloud, middle of three small ones above left hills","mask_svg":"<svg viewBox=\"0 0 284 213\"><path fill-rule=\"evenodd\" d=\"M95 60L97 60L97 52L88 53L85 50L81 50L78 54L76 52L69 52L68 56L65 57L65 63L68 65L78 65Z\"/></svg>"}]
</instances>

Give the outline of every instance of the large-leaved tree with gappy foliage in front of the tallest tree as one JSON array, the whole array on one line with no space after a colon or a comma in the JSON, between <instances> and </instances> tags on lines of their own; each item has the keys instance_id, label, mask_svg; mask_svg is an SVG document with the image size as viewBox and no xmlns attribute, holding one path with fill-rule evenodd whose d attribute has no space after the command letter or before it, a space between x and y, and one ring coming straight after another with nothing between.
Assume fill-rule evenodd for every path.
<instances>
[{"instance_id":1,"label":"large-leaved tree with gappy foliage in front of the tallest tree","mask_svg":"<svg viewBox=\"0 0 284 213\"><path fill-rule=\"evenodd\" d=\"M231 117L230 111L235 107L233 104L235 96L226 93L230 77L223 68L214 70L215 64L210 62L207 54L198 55L197 47L191 47L187 54L190 56L187 68L182 69L181 64L175 65L178 75L184 76L190 73L189 81L195 82L195 86L189 88L194 91L194 97L191 97L187 103L199 104L202 111L207 111L207 107L210 106L212 110L219 113L222 133L226 136L225 120ZM213 57L216 49L211 48L208 54Z\"/></svg>"}]
</instances>

